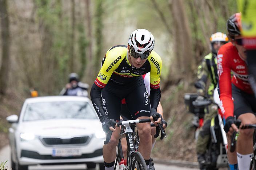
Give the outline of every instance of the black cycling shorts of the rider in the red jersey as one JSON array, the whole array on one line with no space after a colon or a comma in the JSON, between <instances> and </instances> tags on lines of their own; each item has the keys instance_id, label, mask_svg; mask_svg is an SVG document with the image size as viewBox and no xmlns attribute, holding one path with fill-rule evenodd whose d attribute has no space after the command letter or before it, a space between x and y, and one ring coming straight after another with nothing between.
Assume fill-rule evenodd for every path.
<instances>
[{"instance_id":1,"label":"black cycling shorts of the rider in the red jersey","mask_svg":"<svg viewBox=\"0 0 256 170\"><path fill-rule=\"evenodd\" d=\"M256 98L238 89L232 84L232 97L234 99L234 115L238 118L241 114L256 112Z\"/></svg>"}]
</instances>

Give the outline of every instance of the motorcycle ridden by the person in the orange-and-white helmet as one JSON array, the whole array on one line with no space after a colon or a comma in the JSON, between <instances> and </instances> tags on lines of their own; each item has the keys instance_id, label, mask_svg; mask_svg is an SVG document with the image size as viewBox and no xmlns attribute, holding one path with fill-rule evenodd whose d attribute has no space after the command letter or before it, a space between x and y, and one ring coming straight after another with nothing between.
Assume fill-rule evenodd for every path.
<instances>
[{"instance_id":1,"label":"motorcycle ridden by the person in the orange-and-white helmet","mask_svg":"<svg viewBox=\"0 0 256 170\"><path fill-rule=\"evenodd\" d=\"M186 95L186 94L185 94ZM205 170L217 170L221 167L228 167L228 158L227 158L227 147L228 141L226 133L223 129L223 119L219 109L220 99L219 94L217 92L217 88L213 93L213 101L211 99L200 99L196 97L195 93L191 95L190 100L187 103L190 103L190 107L188 110L195 114L195 116L200 116L200 118L207 112L208 106L214 103L215 105L211 105L211 107L216 107L218 110L217 115L211 119L211 139L207 145L207 151L205 153L205 159L207 164L205 165ZM188 96L187 96L188 98ZM201 115L199 114L201 113ZM201 118L203 119L203 118ZM200 124L199 124L200 125ZM200 125L203 126L203 125ZM197 127L195 137L199 135L199 128ZM197 139L197 138L196 138Z\"/></svg>"}]
</instances>

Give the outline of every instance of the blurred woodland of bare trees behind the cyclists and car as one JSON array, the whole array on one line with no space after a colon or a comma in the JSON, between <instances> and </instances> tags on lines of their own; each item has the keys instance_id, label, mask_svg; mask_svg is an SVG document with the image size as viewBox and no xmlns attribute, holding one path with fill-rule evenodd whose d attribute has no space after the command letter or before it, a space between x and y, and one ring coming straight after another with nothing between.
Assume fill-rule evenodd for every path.
<instances>
[{"instance_id":1,"label":"blurred woodland of bare trees behind the cyclists and car","mask_svg":"<svg viewBox=\"0 0 256 170\"><path fill-rule=\"evenodd\" d=\"M233 0L0 0L0 118L18 112L31 88L58 95L71 72L92 85L105 52L144 28L163 60L165 117L185 122L177 124L184 128L183 94L194 90L209 37L226 33L235 12ZM170 145L173 130L168 136Z\"/></svg>"}]
</instances>

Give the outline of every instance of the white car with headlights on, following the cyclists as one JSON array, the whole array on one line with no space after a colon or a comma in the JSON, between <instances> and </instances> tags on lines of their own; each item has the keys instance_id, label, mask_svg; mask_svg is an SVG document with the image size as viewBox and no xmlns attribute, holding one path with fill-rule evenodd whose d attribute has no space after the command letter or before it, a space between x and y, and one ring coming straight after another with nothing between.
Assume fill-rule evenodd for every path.
<instances>
[{"instance_id":1,"label":"white car with headlights on, following the cyclists","mask_svg":"<svg viewBox=\"0 0 256 170\"><path fill-rule=\"evenodd\" d=\"M29 165L103 163L105 133L87 97L51 96L25 100L18 118L8 116L13 170Z\"/></svg>"}]
</instances>

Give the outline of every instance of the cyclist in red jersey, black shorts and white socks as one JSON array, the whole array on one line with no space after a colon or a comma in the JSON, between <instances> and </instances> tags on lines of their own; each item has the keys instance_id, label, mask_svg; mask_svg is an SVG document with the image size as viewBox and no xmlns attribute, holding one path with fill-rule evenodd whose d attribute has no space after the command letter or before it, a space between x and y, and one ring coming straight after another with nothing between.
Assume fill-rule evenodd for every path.
<instances>
[{"instance_id":1,"label":"cyclist in red jersey, black shorts and white socks","mask_svg":"<svg viewBox=\"0 0 256 170\"><path fill-rule=\"evenodd\" d=\"M232 15L227 21L228 35L231 42L223 45L217 55L221 111L224 114L224 130L229 136L238 131L234 117L242 124L256 123L256 99L248 82L249 74L246 52L240 33L241 14ZM231 77L233 72L233 78ZM253 129L241 129L237 139L237 163L241 170L249 169L253 156Z\"/></svg>"}]
</instances>

